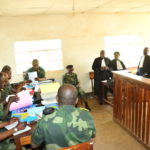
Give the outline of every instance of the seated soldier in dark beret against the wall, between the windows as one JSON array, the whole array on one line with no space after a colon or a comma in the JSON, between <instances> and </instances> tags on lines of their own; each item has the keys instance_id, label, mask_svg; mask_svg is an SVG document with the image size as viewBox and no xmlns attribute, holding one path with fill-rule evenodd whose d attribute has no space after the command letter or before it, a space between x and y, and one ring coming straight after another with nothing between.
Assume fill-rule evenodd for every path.
<instances>
[{"instance_id":1,"label":"seated soldier in dark beret against the wall, between the windows","mask_svg":"<svg viewBox=\"0 0 150 150\"><path fill-rule=\"evenodd\" d=\"M85 103L85 108L87 108L88 110L91 111L91 109L88 105L86 93L80 88L78 76L76 73L73 72L73 70L74 70L73 65L68 65L66 67L66 69L68 70L68 72L65 73L65 75L63 76L63 84L74 85L78 90L79 98L81 98L83 100L83 102Z\"/></svg>"}]
</instances>

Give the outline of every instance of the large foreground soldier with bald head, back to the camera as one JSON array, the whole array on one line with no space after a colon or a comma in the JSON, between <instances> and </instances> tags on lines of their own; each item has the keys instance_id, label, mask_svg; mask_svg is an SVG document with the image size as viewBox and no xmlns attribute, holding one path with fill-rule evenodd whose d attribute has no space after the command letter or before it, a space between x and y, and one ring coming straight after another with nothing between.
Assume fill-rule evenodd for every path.
<instances>
[{"instance_id":1,"label":"large foreground soldier with bald head, back to the camera","mask_svg":"<svg viewBox=\"0 0 150 150\"><path fill-rule=\"evenodd\" d=\"M32 148L39 147L43 142L47 150L58 150L95 137L94 121L85 108L76 108L77 89L69 84L58 90L59 109L44 115L32 134Z\"/></svg>"}]
</instances>

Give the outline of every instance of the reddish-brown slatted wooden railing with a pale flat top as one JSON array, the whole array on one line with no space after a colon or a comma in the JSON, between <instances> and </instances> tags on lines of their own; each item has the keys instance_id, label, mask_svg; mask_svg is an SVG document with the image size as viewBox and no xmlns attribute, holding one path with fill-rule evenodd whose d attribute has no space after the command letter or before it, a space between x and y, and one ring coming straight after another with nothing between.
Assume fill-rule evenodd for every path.
<instances>
[{"instance_id":1,"label":"reddish-brown slatted wooden railing with a pale flat top","mask_svg":"<svg viewBox=\"0 0 150 150\"><path fill-rule=\"evenodd\" d=\"M113 72L113 118L150 148L150 79Z\"/></svg>"}]
</instances>

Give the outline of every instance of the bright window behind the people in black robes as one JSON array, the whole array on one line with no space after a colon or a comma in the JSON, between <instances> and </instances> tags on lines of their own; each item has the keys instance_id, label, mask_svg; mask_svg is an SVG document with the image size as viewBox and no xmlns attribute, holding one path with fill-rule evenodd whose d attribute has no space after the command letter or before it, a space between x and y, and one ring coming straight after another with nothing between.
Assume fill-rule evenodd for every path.
<instances>
[{"instance_id":1,"label":"bright window behind the people in black robes","mask_svg":"<svg viewBox=\"0 0 150 150\"><path fill-rule=\"evenodd\" d=\"M110 59L114 59L114 52L120 52L120 59L125 63L126 67L138 66L143 48L139 35L125 36L105 36L104 44L106 55Z\"/></svg>"}]
</instances>

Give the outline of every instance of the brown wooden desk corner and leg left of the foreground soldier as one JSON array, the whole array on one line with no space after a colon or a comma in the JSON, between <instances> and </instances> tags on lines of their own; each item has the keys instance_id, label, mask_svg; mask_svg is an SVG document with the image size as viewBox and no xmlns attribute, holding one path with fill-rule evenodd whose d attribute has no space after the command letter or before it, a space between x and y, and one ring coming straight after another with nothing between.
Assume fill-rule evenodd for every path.
<instances>
[{"instance_id":1,"label":"brown wooden desk corner and leg left of the foreground soldier","mask_svg":"<svg viewBox=\"0 0 150 150\"><path fill-rule=\"evenodd\" d=\"M13 136L15 144L16 144L16 150L22 150L23 145L31 144L31 134L33 130L35 129L36 124L29 125L31 127L31 130L24 132L22 134Z\"/></svg>"}]
</instances>

